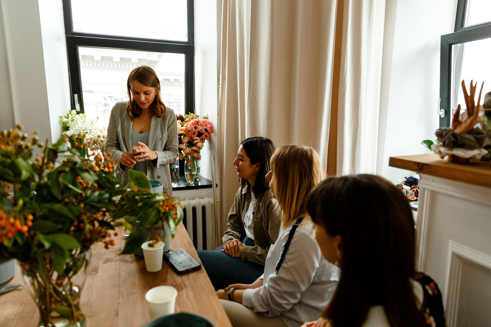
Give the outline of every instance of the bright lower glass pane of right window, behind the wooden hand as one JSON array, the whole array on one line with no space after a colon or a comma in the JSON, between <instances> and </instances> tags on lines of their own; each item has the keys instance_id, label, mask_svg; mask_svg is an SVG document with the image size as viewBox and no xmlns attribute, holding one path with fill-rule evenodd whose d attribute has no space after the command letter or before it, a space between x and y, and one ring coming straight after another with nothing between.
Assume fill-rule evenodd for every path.
<instances>
[{"instance_id":1,"label":"bright lower glass pane of right window, behind the wooden hand","mask_svg":"<svg viewBox=\"0 0 491 327\"><path fill-rule=\"evenodd\" d=\"M470 93L470 80L474 80L474 84L477 82L474 100L476 102L481 84L484 82L481 95L481 104L483 103L484 95L491 88L491 56L487 49L491 49L491 39L461 43L452 47L452 109L457 109L458 104L462 109L466 109L462 80L465 81L468 93Z\"/></svg>"}]
</instances>

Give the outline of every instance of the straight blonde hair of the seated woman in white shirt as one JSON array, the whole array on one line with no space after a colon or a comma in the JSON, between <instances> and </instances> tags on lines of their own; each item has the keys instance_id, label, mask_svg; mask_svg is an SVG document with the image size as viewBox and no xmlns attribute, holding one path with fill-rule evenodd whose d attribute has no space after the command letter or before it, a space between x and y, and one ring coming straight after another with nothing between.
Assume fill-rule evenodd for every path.
<instances>
[{"instance_id":1,"label":"straight blonde hair of the seated woman in white shirt","mask_svg":"<svg viewBox=\"0 0 491 327\"><path fill-rule=\"evenodd\" d=\"M319 155L311 147L286 145L271 156L274 197L281 208L283 228L305 216L306 198L312 188L324 179Z\"/></svg>"}]
</instances>

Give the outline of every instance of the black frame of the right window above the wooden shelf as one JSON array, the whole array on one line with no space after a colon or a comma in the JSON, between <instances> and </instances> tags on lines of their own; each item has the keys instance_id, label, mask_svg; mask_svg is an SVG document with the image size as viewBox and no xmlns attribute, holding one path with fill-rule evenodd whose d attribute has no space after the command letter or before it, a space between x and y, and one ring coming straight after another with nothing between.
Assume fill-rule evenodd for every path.
<instances>
[{"instance_id":1,"label":"black frame of the right window above the wooden shelf","mask_svg":"<svg viewBox=\"0 0 491 327\"><path fill-rule=\"evenodd\" d=\"M491 22L465 26L467 0L458 0L454 32L442 35L440 38L440 112L445 110L445 116L439 118L440 127L450 127L452 118L451 81L452 81L452 49L454 45L491 38ZM454 54L461 57L463 53ZM458 59L456 60L458 61ZM462 60L461 60L462 61ZM454 81L454 90L459 90L460 81Z\"/></svg>"}]
</instances>

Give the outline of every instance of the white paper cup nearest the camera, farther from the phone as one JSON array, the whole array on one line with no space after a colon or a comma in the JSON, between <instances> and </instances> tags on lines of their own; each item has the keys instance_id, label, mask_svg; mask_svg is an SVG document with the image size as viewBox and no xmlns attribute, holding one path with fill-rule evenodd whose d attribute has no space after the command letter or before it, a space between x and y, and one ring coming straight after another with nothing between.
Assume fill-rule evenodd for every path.
<instances>
[{"instance_id":1,"label":"white paper cup nearest the camera, farther from the phone","mask_svg":"<svg viewBox=\"0 0 491 327\"><path fill-rule=\"evenodd\" d=\"M168 285L156 286L145 294L145 300L150 309L150 318L174 313L177 290Z\"/></svg>"}]
</instances>

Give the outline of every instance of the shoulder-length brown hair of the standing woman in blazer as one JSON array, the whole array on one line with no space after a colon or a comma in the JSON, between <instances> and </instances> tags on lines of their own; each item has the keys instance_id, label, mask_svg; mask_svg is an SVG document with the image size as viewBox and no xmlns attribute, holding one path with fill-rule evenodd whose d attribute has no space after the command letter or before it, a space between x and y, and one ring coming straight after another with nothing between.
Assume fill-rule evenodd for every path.
<instances>
[{"instance_id":1,"label":"shoulder-length brown hair of the standing woman in blazer","mask_svg":"<svg viewBox=\"0 0 491 327\"><path fill-rule=\"evenodd\" d=\"M147 66L147 65L141 65L138 67L135 67L130 75L128 76L128 81L126 83L126 86L128 88L128 104L126 105L126 112L128 113L128 116L130 116L131 120L135 119L136 117L140 117L141 115L141 108L139 107L138 104L136 104L135 100L133 100L132 97L132 92L131 92L131 82L136 80L138 83L147 86L147 87L154 87L155 91L157 92L157 97L155 100L150 104L149 109L150 109L150 117L162 117L165 115L165 112L167 111L167 108L165 107L164 102L162 102L160 98L160 80L155 71Z\"/></svg>"}]
</instances>

